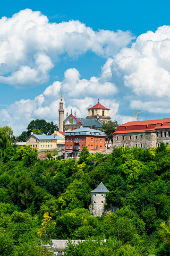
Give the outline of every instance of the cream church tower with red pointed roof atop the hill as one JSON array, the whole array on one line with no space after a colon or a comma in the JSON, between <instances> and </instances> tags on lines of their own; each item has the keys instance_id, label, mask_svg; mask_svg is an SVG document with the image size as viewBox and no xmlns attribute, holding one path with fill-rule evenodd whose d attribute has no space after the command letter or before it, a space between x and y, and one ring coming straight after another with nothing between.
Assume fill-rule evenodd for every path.
<instances>
[{"instance_id":1,"label":"cream church tower with red pointed roof atop the hill","mask_svg":"<svg viewBox=\"0 0 170 256\"><path fill-rule=\"evenodd\" d=\"M103 123L106 123L110 120L109 109L105 108L98 102L96 105L88 109L86 119L100 119Z\"/></svg>"}]
</instances>

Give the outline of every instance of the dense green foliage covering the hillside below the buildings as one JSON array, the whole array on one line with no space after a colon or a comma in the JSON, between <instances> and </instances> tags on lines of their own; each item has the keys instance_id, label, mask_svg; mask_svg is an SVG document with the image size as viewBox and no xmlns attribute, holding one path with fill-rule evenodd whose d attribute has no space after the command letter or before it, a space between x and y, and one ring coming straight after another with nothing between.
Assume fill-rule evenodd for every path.
<instances>
[{"instance_id":1,"label":"dense green foliage covering the hillside below the buildings","mask_svg":"<svg viewBox=\"0 0 170 256\"><path fill-rule=\"evenodd\" d=\"M170 255L170 146L126 148L75 159L37 159L8 146L0 158L0 255L52 255L50 239L68 241L67 256ZM106 215L88 212L91 191L108 189ZM117 208L116 214L110 209Z\"/></svg>"}]
</instances>

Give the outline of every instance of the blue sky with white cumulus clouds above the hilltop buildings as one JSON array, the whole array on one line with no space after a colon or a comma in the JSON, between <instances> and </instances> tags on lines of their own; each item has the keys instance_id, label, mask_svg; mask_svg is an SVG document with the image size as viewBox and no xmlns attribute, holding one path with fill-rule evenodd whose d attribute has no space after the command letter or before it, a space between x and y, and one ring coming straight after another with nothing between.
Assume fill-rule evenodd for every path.
<instances>
[{"instance_id":1,"label":"blue sky with white cumulus clouds above the hilltop buildings","mask_svg":"<svg viewBox=\"0 0 170 256\"><path fill-rule=\"evenodd\" d=\"M98 98L119 124L170 117L170 1L8 0L0 8L0 126L84 118Z\"/></svg>"}]
</instances>

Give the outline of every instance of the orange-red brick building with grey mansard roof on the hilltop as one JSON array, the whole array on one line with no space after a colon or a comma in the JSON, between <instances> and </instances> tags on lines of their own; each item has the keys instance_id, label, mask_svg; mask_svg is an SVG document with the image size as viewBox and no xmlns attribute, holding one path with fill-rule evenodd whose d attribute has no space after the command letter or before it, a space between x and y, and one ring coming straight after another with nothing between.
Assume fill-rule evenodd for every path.
<instances>
[{"instance_id":1,"label":"orange-red brick building with grey mansard roof on the hilltop","mask_svg":"<svg viewBox=\"0 0 170 256\"><path fill-rule=\"evenodd\" d=\"M79 128L65 133L65 158L77 157L83 147L90 153L103 152L106 134L92 128Z\"/></svg>"}]
</instances>

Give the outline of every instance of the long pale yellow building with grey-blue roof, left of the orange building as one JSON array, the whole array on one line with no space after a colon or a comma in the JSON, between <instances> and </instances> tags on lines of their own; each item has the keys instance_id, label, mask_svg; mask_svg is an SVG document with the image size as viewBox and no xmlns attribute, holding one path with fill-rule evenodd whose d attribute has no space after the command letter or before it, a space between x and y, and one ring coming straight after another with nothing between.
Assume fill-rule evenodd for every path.
<instances>
[{"instance_id":1,"label":"long pale yellow building with grey-blue roof, left of the orange building","mask_svg":"<svg viewBox=\"0 0 170 256\"><path fill-rule=\"evenodd\" d=\"M31 133L26 139L26 145L32 145L32 147L37 147L39 150L57 150L57 145L63 143L65 143L65 138L59 135L37 135Z\"/></svg>"}]
</instances>

